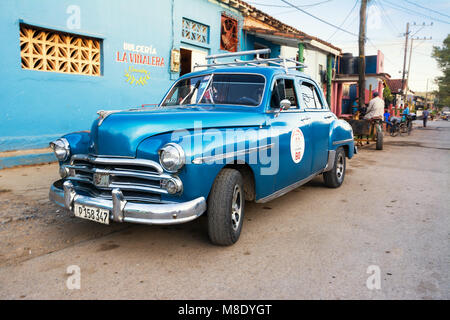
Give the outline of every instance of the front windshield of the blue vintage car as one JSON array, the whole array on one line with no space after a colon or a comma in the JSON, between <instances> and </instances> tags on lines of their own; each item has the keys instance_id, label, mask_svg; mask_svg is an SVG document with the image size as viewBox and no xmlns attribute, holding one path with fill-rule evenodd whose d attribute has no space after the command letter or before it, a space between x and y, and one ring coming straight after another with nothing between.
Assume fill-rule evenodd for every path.
<instances>
[{"instance_id":1,"label":"front windshield of the blue vintage car","mask_svg":"<svg viewBox=\"0 0 450 320\"><path fill-rule=\"evenodd\" d=\"M212 79L210 79L211 76ZM258 106L261 103L264 85L264 77L255 74L214 74L191 77L178 81L161 105Z\"/></svg>"}]
</instances>

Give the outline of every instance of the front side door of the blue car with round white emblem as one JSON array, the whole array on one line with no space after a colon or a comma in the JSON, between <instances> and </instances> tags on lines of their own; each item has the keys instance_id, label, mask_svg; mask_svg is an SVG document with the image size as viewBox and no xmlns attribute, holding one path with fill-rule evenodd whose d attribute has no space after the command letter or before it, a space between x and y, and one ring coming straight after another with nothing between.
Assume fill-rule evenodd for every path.
<instances>
[{"instance_id":1,"label":"front side door of the blue car with round white emblem","mask_svg":"<svg viewBox=\"0 0 450 320\"><path fill-rule=\"evenodd\" d=\"M283 189L311 174L312 148L310 120L301 110L294 77L278 77L272 83L271 130L278 136L279 170L275 190ZM280 102L289 99L291 108L280 111Z\"/></svg>"}]
</instances>

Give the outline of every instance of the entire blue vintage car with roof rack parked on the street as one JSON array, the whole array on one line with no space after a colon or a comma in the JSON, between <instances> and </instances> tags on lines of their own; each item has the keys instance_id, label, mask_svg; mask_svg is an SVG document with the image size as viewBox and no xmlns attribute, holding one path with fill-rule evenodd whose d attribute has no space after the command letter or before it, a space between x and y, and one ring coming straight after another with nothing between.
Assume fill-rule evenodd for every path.
<instances>
[{"instance_id":1,"label":"entire blue vintage car with roof rack parked on the street","mask_svg":"<svg viewBox=\"0 0 450 320\"><path fill-rule=\"evenodd\" d=\"M99 111L90 132L53 141L62 179L50 199L105 224L206 213L211 241L231 245L245 201L270 201L320 174L339 187L356 151L352 128L298 63L216 58L178 79L158 107Z\"/></svg>"}]
</instances>

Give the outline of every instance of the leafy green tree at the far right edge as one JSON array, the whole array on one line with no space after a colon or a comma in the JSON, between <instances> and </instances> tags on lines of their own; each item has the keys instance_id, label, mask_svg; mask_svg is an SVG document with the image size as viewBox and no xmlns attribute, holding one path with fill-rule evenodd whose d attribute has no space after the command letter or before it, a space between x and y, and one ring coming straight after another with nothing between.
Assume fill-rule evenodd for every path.
<instances>
[{"instance_id":1,"label":"leafy green tree at the far right edge","mask_svg":"<svg viewBox=\"0 0 450 320\"><path fill-rule=\"evenodd\" d=\"M439 106L450 106L450 34L445 38L442 47L433 47L433 57L444 74L436 78L439 91L436 93Z\"/></svg>"}]
</instances>

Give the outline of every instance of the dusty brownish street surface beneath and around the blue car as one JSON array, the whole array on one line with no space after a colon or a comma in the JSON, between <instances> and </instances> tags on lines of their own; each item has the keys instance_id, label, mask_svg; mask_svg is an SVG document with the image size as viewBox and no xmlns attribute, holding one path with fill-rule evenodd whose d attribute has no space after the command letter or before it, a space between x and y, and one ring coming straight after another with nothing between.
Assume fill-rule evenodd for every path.
<instances>
[{"instance_id":1,"label":"dusty brownish street surface beneath and around the blue car","mask_svg":"<svg viewBox=\"0 0 450 320\"><path fill-rule=\"evenodd\" d=\"M247 203L240 240L210 244L206 218L105 226L48 200L57 164L0 170L0 299L450 299L450 123L416 121L322 177ZM67 268L79 266L80 289ZM381 271L370 290L369 266Z\"/></svg>"}]
</instances>

